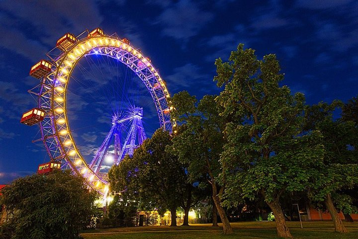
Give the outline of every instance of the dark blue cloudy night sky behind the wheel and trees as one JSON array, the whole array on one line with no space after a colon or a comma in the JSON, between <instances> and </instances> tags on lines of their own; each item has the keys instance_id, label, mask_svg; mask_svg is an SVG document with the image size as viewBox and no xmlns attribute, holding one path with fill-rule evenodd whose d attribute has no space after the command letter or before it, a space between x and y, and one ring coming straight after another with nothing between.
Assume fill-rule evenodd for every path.
<instances>
[{"instance_id":1,"label":"dark blue cloudy night sky behind the wheel and trees","mask_svg":"<svg viewBox=\"0 0 358 239\"><path fill-rule=\"evenodd\" d=\"M19 123L36 105L27 93L37 84L30 67L66 32L95 27L140 47L171 94L217 94L214 61L227 60L239 43L259 58L276 54L283 84L308 104L358 94L357 0L1 0L0 183L48 160L42 145L31 143L38 127ZM93 134L84 133L78 143L93 150Z\"/></svg>"}]
</instances>

